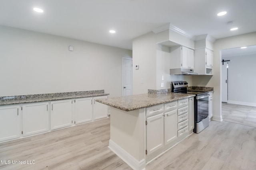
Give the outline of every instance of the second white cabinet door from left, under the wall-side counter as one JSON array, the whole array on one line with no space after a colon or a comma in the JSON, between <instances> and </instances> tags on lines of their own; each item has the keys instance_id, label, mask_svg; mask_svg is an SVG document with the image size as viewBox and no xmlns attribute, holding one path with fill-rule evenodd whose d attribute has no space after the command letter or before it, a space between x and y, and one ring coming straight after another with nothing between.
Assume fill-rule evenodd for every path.
<instances>
[{"instance_id":1,"label":"second white cabinet door from left, under the wall-side counter","mask_svg":"<svg viewBox=\"0 0 256 170\"><path fill-rule=\"evenodd\" d=\"M48 102L22 105L23 136L34 135L48 131Z\"/></svg>"}]
</instances>

